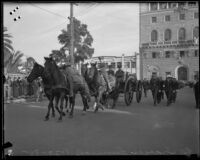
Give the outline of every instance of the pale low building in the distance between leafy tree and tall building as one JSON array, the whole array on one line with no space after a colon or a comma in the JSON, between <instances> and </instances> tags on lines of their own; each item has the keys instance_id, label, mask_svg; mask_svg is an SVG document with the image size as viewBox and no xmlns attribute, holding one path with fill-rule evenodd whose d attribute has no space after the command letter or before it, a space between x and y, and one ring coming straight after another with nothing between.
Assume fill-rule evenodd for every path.
<instances>
[{"instance_id":1,"label":"pale low building in the distance between leafy tree and tall building","mask_svg":"<svg viewBox=\"0 0 200 160\"><path fill-rule=\"evenodd\" d=\"M118 64L122 65L122 69L126 72L129 73L136 73L136 60L135 60L135 56L124 56L122 55L121 57L117 57L117 56L99 56L101 57L103 60L103 62L105 62L105 64L107 65L107 69L108 69L108 65L112 66L112 69L114 71L117 71L117 66ZM99 65L100 61L99 61L99 57L92 57L89 60L86 60L85 62L97 62L97 65Z\"/></svg>"}]
</instances>

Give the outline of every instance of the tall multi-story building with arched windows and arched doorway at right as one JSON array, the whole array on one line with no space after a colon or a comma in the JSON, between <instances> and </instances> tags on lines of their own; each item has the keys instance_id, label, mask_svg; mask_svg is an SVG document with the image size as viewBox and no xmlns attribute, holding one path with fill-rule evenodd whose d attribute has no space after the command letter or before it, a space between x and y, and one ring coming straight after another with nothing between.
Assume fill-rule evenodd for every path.
<instances>
[{"instance_id":1,"label":"tall multi-story building with arched windows and arched doorway at right","mask_svg":"<svg viewBox=\"0 0 200 160\"><path fill-rule=\"evenodd\" d=\"M198 9L191 1L140 4L141 78L193 80L199 73Z\"/></svg>"}]
</instances>

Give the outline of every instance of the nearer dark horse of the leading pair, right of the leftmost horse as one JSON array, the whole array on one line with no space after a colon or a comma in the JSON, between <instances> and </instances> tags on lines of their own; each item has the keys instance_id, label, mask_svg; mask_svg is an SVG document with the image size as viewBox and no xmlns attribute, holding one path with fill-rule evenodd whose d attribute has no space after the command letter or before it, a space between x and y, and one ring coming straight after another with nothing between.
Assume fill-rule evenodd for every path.
<instances>
[{"instance_id":1,"label":"nearer dark horse of the leading pair, right of the leftmost horse","mask_svg":"<svg viewBox=\"0 0 200 160\"><path fill-rule=\"evenodd\" d=\"M58 68L58 66L56 65L55 61L52 59L52 58L47 58L45 57L44 58L46 61L45 61L45 70L47 72L49 72L49 74L51 75L51 78L52 78L52 81L53 81L53 88L54 90L55 89L58 89L57 90L57 93L55 93L55 96L57 98L57 101L56 101L56 107L58 108L58 101L60 100L61 103L60 103L60 110L62 112L63 110L63 96L65 94L69 95L69 83L68 83L68 79L67 79L67 76L68 76L68 73L66 72L61 72ZM83 78L82 78L83 79ZM73 81L74 83L74 81ZM88 94L87 94L87 91L86 91L86 87L87 86L83 86L83 85L79 85L79 84L76 84L76 85L73 85L73 91L74 91L74 95L73 97L71 97L71 111L70 111L70 114L69 114L69 117L72 118L73 117L73 111L74 111L74 105L75 105L75 96L76 96L76 93L78 91L80 91L80 94L81 94L81 97L82 97L82 101L83 101L83 113L86 112L86 109L89 108L88 106ZM57 109L58 110L58 109ZM60 118L59 120L62 120L62 114L60 113Z\"/></svg>"}]
</instances>

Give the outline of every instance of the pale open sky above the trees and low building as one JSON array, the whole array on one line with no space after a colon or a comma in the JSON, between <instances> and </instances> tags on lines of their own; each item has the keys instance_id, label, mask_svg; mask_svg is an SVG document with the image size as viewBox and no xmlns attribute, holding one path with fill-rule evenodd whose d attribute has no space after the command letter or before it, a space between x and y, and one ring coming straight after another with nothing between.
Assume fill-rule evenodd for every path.
<instances>
[{"instance_id":1,"label":"pale open sky above the trees and low building","mask_svg":"<svg viewBox=\"0 0 200 160\"><path fill-rule=\"evenodd\" d=\"M129 56L139 51L138 3L78 3L73 9L94 39L93 57ZM14 21L18 16L21 19ZM69 24L69 16L69 3L3 3L3 25L13 36L14 49L39 64L62 47L57 37Z\"/></svg>"}]
</instances>

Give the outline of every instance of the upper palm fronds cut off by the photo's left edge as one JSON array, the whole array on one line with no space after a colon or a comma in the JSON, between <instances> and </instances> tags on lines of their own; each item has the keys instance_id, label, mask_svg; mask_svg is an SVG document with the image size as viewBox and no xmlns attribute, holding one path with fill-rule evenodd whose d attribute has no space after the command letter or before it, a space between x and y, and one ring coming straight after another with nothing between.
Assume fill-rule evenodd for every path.
<instances>
[{"instance_id":1,"label":"upper palm fronds cut off by the photo's left edge","mask_svg":"<svg viewBox=\"0 0 200 160\"><path fill-rule=\"evenodd\" d=\"M12 36L9 33L6 33L8 30L6 27L3 28L3 47L4 47L4 63L7 63L9 58L13 55L14 49L12 47L12 41L10 38Z\"/></svg>"}]
</instances>

